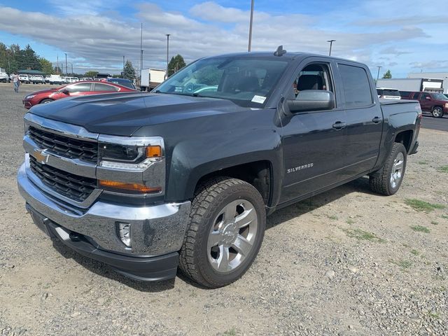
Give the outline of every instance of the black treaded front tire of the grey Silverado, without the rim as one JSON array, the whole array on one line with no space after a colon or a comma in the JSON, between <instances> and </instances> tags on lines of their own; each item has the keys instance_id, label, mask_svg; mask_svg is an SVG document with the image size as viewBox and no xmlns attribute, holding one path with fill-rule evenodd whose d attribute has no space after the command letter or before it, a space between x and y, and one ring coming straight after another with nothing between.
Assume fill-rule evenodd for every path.
<instances>
[{"instance_id":1,"label":"black treaded front tire of the grey Silverado, without the rim","mask_svg":"<svg viewBox=\"0 0 448 336\"><path fill-rule=\"evenodd\" d=\"M246 253L244 260L235 269L224 273L218 272L209 261L210 258L213 258L211 257L212 252L207 247L209 235L211 236L211 231L215 230L216 219L220 212L239 200L241 200L241 204L248 201L247 204L253 206L256 214L256 234L252 236L253 244ZM235 214L235 216L237 215L238 213ZM224 221L221 221L221 223L224 223ZM236 219L235 223L237 223ZM229 177L211 179L196 190L186 236L181 248L179 267L183 274L202 286L209 288L226 286L243 276L247 269L251 267L260 249L265 228L265 204L258 190L251 184L239 179ZM241 231L237 233L237 235L239 234L243 235ZM218 246L215 247L218 248Z\"/></svg>"}]
</instances>

